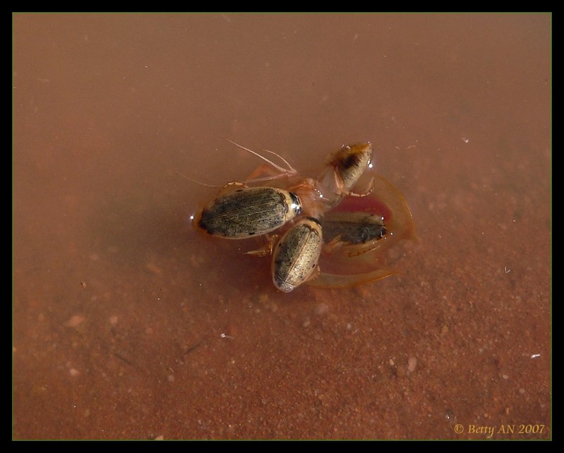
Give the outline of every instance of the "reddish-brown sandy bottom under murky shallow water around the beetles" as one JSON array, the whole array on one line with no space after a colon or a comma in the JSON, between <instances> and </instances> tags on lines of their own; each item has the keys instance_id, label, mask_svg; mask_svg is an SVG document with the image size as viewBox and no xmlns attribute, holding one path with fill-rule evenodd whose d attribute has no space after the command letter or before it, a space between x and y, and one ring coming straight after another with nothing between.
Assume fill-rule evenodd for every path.
<instances>
[{"instance_id":1,"label":"reddish-brown sandy bottom under murky shallow water around the beetles","mask_svg":"<svg viewBox=\"0 0 564 453\"><path fill-rule=\"evenodd\" d=\"M16 14L13 437L551 438L551 16ZM403 273L282 294L188 217L370 140Z\"/></svg>"}]
</instances>

